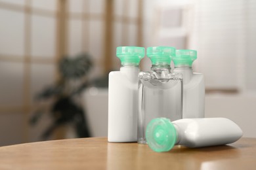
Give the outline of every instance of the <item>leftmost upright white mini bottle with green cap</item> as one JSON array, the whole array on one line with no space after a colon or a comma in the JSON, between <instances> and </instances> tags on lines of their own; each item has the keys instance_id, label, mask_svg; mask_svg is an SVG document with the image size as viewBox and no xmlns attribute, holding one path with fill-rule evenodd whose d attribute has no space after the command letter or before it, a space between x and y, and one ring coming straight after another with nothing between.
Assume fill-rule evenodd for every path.
<instances>
[{"instance_id":1,"label":"leftmost upright white mini bottle with green cap","mask_svg":"<svg viewBox=\"0 0 256 170\"><path fill-rule=\"evenodd\" d=\"M138 74L145 50L137 46L119 46L116 56L121 60L120 71L109 74L108 141L137 141Z\"/></svg>"}]
</instances>

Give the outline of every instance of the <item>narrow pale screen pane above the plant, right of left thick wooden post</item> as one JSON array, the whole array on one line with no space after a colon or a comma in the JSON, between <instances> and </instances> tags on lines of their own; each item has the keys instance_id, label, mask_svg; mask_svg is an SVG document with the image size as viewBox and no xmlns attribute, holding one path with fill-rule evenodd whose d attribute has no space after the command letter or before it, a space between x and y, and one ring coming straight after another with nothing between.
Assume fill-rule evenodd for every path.
<instances>
[{"instance_id":1,"label":"narrow pale screen pane above the plant, right of left thick wooden post","mask_svg":"<svg viewBox=\"0 0 256 170\"><path fill-rule=\"evenodd\" d=\"M69 20L68 26L68 55L75 56L82 51L82 20Z\"/></svg>"}]
</instances>

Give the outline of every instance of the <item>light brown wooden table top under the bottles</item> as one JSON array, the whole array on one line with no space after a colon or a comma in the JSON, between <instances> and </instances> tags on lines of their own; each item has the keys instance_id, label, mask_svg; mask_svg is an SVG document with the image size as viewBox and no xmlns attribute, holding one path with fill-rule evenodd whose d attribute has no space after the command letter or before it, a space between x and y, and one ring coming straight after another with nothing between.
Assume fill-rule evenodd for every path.
<instances>
[{"instance_id":1,"label":"light brown wooden table top under the bottles","mask_svg":"<svg viewBox=\"0 0 256 170\"><path fill-rule=\"evenodd\" d=\"M0 169L256 169L256 139L161 153L106 138L16 144L0 147Z\"/></svg>"}]
</instances>

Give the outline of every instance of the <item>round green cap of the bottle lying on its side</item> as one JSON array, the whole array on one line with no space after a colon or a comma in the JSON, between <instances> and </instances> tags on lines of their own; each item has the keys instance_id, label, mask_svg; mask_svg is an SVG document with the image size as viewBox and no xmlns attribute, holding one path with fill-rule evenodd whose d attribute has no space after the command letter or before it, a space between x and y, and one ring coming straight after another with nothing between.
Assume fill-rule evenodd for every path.
<instances>
[{"instance_id":1,"label":"round green cap of the bottle lying on its side","mask_svg":"<svg viewBox=\"0 0 256 170\"><path fill-rule=\"evenodd\" d=\"M167 152L176 143L176 129L167 118L155 118L146 127L146 141L155 152Z\"/></svg>"}]
</instances>

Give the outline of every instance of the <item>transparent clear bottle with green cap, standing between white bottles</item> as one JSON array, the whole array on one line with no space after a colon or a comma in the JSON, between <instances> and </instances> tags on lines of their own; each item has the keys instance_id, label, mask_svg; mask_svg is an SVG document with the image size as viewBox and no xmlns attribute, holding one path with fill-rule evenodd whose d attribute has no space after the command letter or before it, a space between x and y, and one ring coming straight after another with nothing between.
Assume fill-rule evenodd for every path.
<instances>
[{"instance_id":1,"label":"transparent clear bottle with green cap, standing between white bottles","mask_svg":"<svg viewBox=\"0 0 256 170\"><path fill-rule=\"evenodd\" d=\"M156 46L147 49L151 71L139 73L138 143L146 144L146 125L153 118L182 118L182 75L171 73L174 47Z\"/></svg>"}]
</instances>

